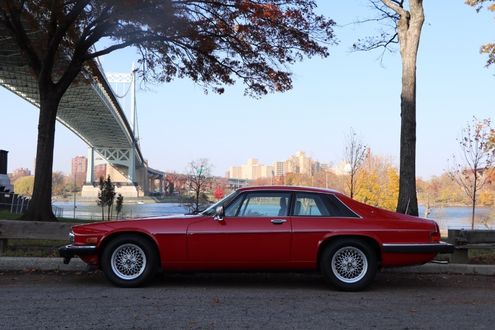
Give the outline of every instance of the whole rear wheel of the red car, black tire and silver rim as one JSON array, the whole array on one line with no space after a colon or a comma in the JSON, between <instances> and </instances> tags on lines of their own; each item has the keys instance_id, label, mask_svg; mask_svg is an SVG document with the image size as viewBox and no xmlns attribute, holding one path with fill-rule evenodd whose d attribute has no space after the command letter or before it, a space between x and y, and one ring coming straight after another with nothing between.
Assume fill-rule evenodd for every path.
<instances>
[{"instance_id":1,"label":"whole rear wheel of the red car, black tire and silver rim","mask_svg":"<svg viewBox=\"0 0 495 330\"><path fill-rule=\"evenodd\" d=\"M371 246L355 238L339 239L323 251L320 265L327 282L341 291L359 291L377 274L377 256Z\"/></svg>"}]
</instances>

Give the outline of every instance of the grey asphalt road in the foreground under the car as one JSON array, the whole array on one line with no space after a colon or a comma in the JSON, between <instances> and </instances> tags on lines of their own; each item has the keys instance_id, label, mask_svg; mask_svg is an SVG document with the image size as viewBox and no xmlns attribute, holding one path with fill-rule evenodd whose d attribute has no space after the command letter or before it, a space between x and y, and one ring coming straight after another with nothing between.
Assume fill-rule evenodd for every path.
<instances>
[{"instance_id":1,"label":"grey asphalt road in the foreground under the car","mask_svg":"<svg viewBox=\"0 0 495 330\"><path fill-rule=\"evenodd\" d=\"M379 273L339 292L318 273L0 272L0 329L494 329L495 277Z\"/></svg>"}]
</instances>

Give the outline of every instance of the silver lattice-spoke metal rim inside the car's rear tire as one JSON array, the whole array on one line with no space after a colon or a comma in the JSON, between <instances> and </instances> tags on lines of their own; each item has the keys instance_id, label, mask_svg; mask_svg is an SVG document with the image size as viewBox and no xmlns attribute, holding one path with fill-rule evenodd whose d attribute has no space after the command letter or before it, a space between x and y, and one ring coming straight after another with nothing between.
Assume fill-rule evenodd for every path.
<instances>
[{"instance_id":1,"label":"silver lattice-spoke metal rim inside the car's rear tire","mask_svg":"<svg viewBox=\"0 0 495 330\"><path fill-rule=\"evenodd\" d=\"M368 271L368 259L358 248L343 247L333 255L331 260L333 275L345 283L355 283Z\"/></svg>"}]
</instances>

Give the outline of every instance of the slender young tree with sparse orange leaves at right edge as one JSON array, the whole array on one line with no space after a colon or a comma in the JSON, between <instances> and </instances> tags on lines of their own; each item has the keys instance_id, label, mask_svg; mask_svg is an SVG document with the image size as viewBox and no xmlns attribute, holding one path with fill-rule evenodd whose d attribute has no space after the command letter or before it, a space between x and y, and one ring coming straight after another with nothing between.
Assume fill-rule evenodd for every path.
<instances>
[{"instance_id":1,"label":"slender young tree with sparse orange leaves at right edge","mask_svg":"<svg viewBox=\"0 0 495 330\"><path fill-rule=\"evenodd\" d=\"M457 138L458 154L447 160L448 176L464 189L473 202L471 229L474 229L476 194L485 184L492 182L495 170L495 130L490 124L490 119L478 121L473 117L471 124L468 123Z\"/></svg>"}]
</instances>

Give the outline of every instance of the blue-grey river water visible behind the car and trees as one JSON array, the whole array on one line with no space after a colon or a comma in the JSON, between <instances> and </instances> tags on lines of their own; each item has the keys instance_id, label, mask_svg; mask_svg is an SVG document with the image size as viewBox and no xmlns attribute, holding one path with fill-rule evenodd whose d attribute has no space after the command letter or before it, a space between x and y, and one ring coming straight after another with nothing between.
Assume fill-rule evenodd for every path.
<instances>
[{"instance_id":1,"label":"blue-grey river water visible behind the car and trees","mask_svg":"<svg viewBox=\"0 0 495 330\"><path fill-rule=\"evenodd\" d=\"M55 202L53 205L63 209L65 218L72 218L74 213L73 202ZM477 217L482 217L490 213L492 209L482 206L476 207ZM115 212L115 211L114 211ZM122 216L125 218L138 218L161 216L171 214L182 214L187 212L187 208L181 207L177 203L124 203L122 207ZM442 210L436 210L429 216L430 219L436 220L442 230L448 228L470 228L471 227L471 207L469 206L449 206ZM419 206L420 217L425 214L425 206ZM102 219L102 209L93 202L76 202L77 219ZM485 229L481 228L480 229Z\"/></svg>"}]
</instances>

